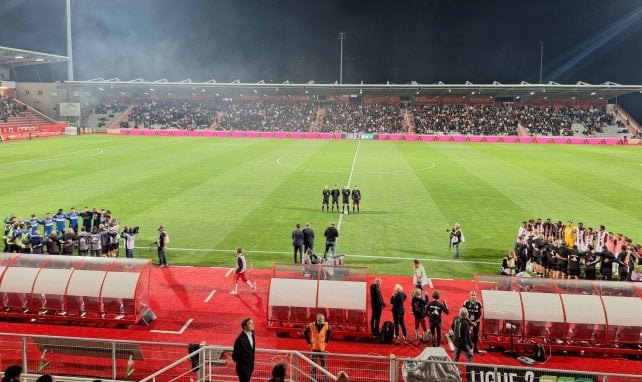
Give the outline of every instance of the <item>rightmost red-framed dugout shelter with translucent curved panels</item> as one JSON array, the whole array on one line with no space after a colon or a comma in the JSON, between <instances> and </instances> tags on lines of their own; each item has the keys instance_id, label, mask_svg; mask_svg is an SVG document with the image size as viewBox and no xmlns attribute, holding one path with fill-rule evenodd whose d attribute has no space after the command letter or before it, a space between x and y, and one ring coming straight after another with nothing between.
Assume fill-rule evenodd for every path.
<instances>
[{"instance_id":1,"label":"rightmost red-framed dugout shelter with translucent curved panels","mask_svg":"<svg viewBox=\"0 0 642 382\"><path fill-rule=\"evenodd\" d=\"M487 345L642 355L642 285L475 275Z\"/></svg>"}]
</instances>

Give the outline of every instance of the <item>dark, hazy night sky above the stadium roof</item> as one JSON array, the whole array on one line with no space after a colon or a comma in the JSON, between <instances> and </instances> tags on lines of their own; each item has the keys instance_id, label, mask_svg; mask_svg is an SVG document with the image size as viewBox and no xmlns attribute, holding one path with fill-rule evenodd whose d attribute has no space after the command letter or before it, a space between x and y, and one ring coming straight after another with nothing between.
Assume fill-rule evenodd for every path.
<instances>
[{"instance_id":1,"label":"dark, hazy night sky above the stadium roof","mask_svg":"<svg viewBox=\"0 0 642 382\"><path fill-rule=\"evenodd\" d=\"M0 45L66 52L65 0L0 0ZM639 0L72 0L75 79L642 83ZM41 65L18 80L65 80Z\"/></svg>"}]
</instances>

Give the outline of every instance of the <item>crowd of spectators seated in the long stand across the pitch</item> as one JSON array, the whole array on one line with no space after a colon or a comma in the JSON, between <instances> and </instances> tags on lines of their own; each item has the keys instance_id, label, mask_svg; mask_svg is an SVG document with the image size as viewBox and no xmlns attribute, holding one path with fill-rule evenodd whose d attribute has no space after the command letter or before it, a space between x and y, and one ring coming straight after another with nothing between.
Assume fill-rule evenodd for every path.
<instances>
[{"instance_id":1,"label":"crowd of spectators seated in the long stand across the pitch","mask_svg":"<svg viewBox=\"0 0 642 382\"><path fill-rule=\"evenodd\" d=\"M605 107L385 105L360 103L212 103L153 101L134 106L129 127L236 131L595 136L615 117Z\"/></svg>"}]
</instances>

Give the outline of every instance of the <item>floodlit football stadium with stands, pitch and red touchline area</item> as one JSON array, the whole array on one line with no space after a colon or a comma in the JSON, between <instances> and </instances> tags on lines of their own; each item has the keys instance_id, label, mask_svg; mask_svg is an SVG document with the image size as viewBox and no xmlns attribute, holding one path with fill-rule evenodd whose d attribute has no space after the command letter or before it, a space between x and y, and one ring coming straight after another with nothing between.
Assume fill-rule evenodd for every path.
<instances>
[{"instance_id":1,"label":"floodlit football stadium with stands, pitch and red touchline area","mask_svg":"<svg viewBox=\"0 0 642 382\"><path fill-rule=\"evenodd\" d=\"M67 38L0 47L8 380L642 381L642 84L77 79Z\"/></svg>"}]
</instances>

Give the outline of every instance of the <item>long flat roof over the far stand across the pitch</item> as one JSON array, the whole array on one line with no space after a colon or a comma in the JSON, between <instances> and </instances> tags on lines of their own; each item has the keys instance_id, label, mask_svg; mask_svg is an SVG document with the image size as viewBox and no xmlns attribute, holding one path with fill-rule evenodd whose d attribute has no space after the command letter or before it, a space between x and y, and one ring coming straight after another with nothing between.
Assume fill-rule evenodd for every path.
<instances>
[{"instance_id":1,"label":"long flat roof over the far stand across the pitch","mask_svg":"<svg viewBox=\"0 0 642 382\"><path fill-rule=\"evenodd\" d=\"M421 84L411 82L409 84L318 84L314 81L303 84L293 84L288 81L284 83L242 83L234 81L219 83L215 80L207 82L192 82L183 80L171 82L166 79L147 81L138 78L131 81L122 81L119 78L102 79L96 78L88 81L67 81L70 85L88 86L104 89L118 89L118 91L152 91L157 94L162 92L213 92L225 96L236 96L239 94L258 93L265 96L271 95L320 95L320 96L342 96L342 95L385 95L414 98L417 96L461 96L461 97L483 97L502 99L512 98L515 100L577 100L578 102L606 102L618 96L642 92L642 85L620 85L614 82L603 84L589 84L577 82L575 84L559 84L549 82L546 84L531 84L521 82L519 84L445 84L438 82L434 84Z\"/></svg>"}]
</instances>

